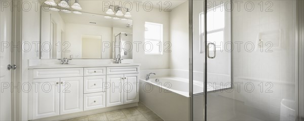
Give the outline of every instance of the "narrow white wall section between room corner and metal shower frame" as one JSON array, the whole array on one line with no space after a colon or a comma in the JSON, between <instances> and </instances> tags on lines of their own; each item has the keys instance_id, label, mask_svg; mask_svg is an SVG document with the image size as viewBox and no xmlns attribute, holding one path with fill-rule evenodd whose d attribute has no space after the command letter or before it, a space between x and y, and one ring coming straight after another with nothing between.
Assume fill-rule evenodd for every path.
<instances>
[{"instance_id":1,"label":"narrow white wall section between room corner and metal shower frame","mask_svg":"<svg viewBox=\"0 0 304 121\"><path fill-rule=\"evenodd\" d=\"M189 70L188 2L170 12L170 68Z\"/></svg>"}]
</instances>

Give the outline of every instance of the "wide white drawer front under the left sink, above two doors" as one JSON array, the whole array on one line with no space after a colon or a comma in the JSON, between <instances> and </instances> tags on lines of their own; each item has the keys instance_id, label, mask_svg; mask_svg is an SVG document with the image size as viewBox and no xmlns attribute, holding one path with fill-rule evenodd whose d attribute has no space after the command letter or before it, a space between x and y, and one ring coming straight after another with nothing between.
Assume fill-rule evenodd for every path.
<instances>
[{"instance_id":1,"label":"wide white drawer front under the left sink, above two doors","mask_svg":"<svg viewBox=\"0 0 304 121\"><path fill-rule=\"evenodd\" d=\"M83 68L33 69L33 78L76 77L83 75Z\"/></svg>"}]
</instances>

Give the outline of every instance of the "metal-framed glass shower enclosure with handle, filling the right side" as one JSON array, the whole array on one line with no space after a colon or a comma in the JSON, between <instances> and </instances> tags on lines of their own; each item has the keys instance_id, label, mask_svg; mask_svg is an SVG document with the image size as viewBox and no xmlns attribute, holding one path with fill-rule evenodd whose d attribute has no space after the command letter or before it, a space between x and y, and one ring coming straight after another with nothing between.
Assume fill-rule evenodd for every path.
<instances>
[{"instance_id":1,"label":"metal-framed glass shower enclosure with handle, filling the right side","mask_svg":"<svg viewBox=\"0 0 304 121\"><path fill-rule=\"evenodd\" d=\"M298 118L298 1L189 1L191 120Z\"/></svg>"}]
</instances>

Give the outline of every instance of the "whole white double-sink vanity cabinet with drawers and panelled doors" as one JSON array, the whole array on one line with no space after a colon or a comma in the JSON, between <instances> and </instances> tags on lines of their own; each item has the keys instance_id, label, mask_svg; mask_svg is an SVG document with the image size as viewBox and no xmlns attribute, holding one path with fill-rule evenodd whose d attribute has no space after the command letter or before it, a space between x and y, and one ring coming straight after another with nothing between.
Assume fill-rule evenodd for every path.
<instances>
[{"instance_id":1,"label":"whole white double-sink vanity cabinet with drawers and panelled doors","mask_svg":"<svg viewBox=\"0 0 304 121\"><path fill-rule=\"evenodd\" d=\"M30 120L121 109L139 101L138 65L32 68L29 73Z\"/></svg>"}]
</instances>

